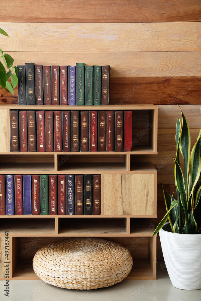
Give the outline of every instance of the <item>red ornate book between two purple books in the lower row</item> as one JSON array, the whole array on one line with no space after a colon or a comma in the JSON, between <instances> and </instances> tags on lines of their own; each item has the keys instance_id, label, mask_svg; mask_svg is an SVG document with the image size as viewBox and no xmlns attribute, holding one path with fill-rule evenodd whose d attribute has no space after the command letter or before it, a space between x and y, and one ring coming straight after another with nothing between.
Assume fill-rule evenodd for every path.
<instances>
[{"instance_id":1,"label":"red ornate book between two purple books in the lower row","mask_svg":"<svg viewBox=\"0 0 201 301\"><path fill-rule=\"evenodd\" d=\"M22 175L14 175L15 182L15 214L23 214Z\"/></svg>"}]
</instances>

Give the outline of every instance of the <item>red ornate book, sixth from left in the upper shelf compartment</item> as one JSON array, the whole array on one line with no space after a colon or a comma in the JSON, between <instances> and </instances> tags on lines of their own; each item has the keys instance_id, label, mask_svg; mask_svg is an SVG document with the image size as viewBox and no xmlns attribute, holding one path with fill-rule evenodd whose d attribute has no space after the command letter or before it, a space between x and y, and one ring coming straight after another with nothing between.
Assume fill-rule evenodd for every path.
<instances>
[{"instance_id":1,"label":"red ornate book, sixth from left in the upper shelf compartment","mask_svg":"<svg viewBox=\"0 0 201 301\"><path fill-rule=\"evenodd\" d=\"M62 151L62 111L54 111L55 151Z\"/></svg>"}]
</instances>

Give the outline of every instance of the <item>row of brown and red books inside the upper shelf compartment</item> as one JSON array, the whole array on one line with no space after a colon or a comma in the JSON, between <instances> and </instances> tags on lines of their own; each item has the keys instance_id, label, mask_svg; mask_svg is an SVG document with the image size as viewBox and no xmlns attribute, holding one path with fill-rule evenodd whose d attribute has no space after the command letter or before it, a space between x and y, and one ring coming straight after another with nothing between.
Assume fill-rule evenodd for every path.
<instances>
[{"instance_id":1,"label":"row of brown and red books inside the upper shelf compartment","mask_svg":"<svg viewBox=\"0 0 201 301\"><path fill-rule=\"evenodd\" d=\"M131 151L132 111L10 110L11 151Z\"/></svg>"}]
</instances>

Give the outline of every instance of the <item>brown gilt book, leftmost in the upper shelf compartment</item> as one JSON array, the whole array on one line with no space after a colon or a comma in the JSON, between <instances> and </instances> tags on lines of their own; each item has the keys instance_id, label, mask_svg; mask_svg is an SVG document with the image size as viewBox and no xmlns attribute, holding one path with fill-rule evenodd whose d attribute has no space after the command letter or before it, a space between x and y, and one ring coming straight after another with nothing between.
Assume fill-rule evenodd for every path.
<instances>
[{"instance_id":1,"label":"brown gilt book, leftmost in the upper shelf compartment","mask_svg":"<svg viewBox=\"0 0 201 301\"><path fill-rule=\"evenodd\" d=\"M18 111L10 111L11 151L19 151L19 121Z\"/></svg>"}]
</instances>

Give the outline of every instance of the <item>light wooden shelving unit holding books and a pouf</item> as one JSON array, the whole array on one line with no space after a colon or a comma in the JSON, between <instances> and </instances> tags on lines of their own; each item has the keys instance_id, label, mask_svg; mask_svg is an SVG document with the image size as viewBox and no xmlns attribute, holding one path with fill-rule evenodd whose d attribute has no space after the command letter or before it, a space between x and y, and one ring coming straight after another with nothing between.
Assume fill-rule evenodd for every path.
<instances>
[{"instance_id":1,"label":"light wooden shelving unit holding books and a pouf","mask_svg":"<svg viewBox=\"0 0 201 301\"><path fill-rule=\"evenodd\" d=\"M131 152L11 152L10 110L132 110ZM157 172L135 162L139 154L157 154L157 116L154 105L18 106L1 105L1 174L101 174L101 215L0 216L0 279L4 278L4 234L9 231L12 280L39 279L32 268L36 251L66 237L100 237L128 248L133 269L127 279L156 279Z\"/></svg>"}]
</instances>

